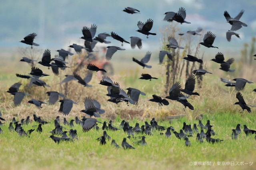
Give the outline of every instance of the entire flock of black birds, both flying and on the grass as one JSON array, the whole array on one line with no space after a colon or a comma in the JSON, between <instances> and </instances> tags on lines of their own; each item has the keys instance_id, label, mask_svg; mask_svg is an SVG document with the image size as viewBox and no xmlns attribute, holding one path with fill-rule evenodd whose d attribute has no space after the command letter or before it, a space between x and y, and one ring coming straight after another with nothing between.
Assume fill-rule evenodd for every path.
<instances>
[{"instance_id":1,"label":"entire flock of black birds, both flying and on the grass","mask_svg":"<svg viewBox=\"0 0 256 170\"><path fill-rule=\"evenodd\" d=\"M125 10L123 10L123 11L127 12L128 14L140 13L139 10L137 10L135 8L130 8L130 7L125 8ZM230 15L228 14L227 11L224 12L226 21L228 23L230 23L230 25L232 25L231 29L226 33L226 38L228 41L231 41L232 35L236 35L237 37L239 37L238 33L235 33L233 31L240 29L242 26L247 27L247 25L245 23L240 21L240 18L243 13L244 13L244 10L241 10L241 12L238 14L238 16L236 16L235 18L232 18L232 17L230 17ZM188 21L185 21L185 18L186 18L186 10L181 7L178 10L178 12L166 12L164 21L168 21L168 22L176 21L181 24L182 23L190 23ZM137 26L138 26L138 30L136 30L136 31L138 31L144 35L147 35L146 38L148 38L149 35L156 35L156 33L150 32L153 27L153 20L150 18L145 23L138 21ZM97 37L94 37L96 35L96 29L97 29L97 26L95 24L91 25L91 27L84 26L82 28L83 36L80 37L81 39L84 39L84 41L85 41L84 46L77 45L77 44L73 43L69 47L74 48L74 51L76 51L76 53L78 55L82 55L82 49L86 50L88 53L96 52L93 50L96 43L98 43L98 42L111 43L110 41L106 41L106 38L112 37L113 39L120 41L122 43L121 44L122 46L123 46L123 43L129 43L131 45L132 49L135 49L136 46L138 47L138 49L142 49L142 39L139 37L130 37L130 42L128 42L124 38L120 37L118 34L114 33L113 31L110 34L100 33L100 34L98 34ZM202 28L199 27L196 31L187 31L187 33L191 34L191 35L201 35L201 34L199 34L201 31L202 31ZM183 34L181 33L179 35L183 35ZM31 48L33 46L39 46L39 44L34 43L34 39L36 36L37 36L36 33L31 33L31 34L27 35L26 37L24 37L24 40L22 40L20 42L31 45ZM216 38L216 35L214 35L211 31L208 31L204 35L203 42L201 42L200 45L203 45L208 48L210 48L210 47L218 48L218 47L213 46L215 38ZM168 48L173 48L173 49L176 49L176 48L184 49L184 47L180 47L178 45L178 41L174 37L168 37L168 44L166 46ZM108 46L106 48L107 48L106 60L111 60L112 56L114 55L114 53L116 53L116 51L125 50L125 49L122 49L122 48L116 47L116 46ZM66 62L65 60L68 59L69 55L73 55L73 53L70 53L69 51L66 51L64 49L57 50L57 52L58 52L58 55L56 55L54 58L51 58L50 50L46 49L43 53L42 60L38 62L38 64L41 64L42 66L52 68L52 71L55 75L59 75L59 71L60 71L59 69L65 70L66 68L69 68L68 66L66 66L66 64L68 64L68 62ZM165 55L167 55L170 60L173 59L172 53L170 53L170 51L160 51L160 53L159 53L160 63L163 62ZM183 59L188 60L190 62L203 63L202 59L198 59L197 57L194 57L192 55L187 55L187 56L188 57L184 57ZM254 56L256 56L256 55L254 55ZM134 61L135 63L138 63L143 68L144 67L152 68L152 66L147 65L147 63L150 61L150 57L151 57L151 52L148 51L146 53L146 55L140 61L138 59L135 59L134 57L132 58L132 61ZM224 61L224 60L225 60L224 55L220 52L218 54L216 54L214 59L212 59L212 61L220 64L221 70L224 70L226 72L234 72L235 70L230 69L230 65L234 62L234 59L233 58L228 59L227 61ZM23 62L26 62L29 64L33 64L33 62L36 62L35 60L29 59L27 57L22 57L22 59L20 61L23 61ZM77 80L78 83L82 84L84 87L92 87L92 85L88 84L90 82L90 80L92 79L92 75L93 75L92 71L106 72L106 70L104 70L103 68L98 68L94 64L90 64L90 63L87 65L86 68L90 71L84 78L82 78L77 72L74 72L73 75L65 75L66 78L64 78L64 80L62 80L61 83L67 83L71 80ZM194 107L192 106L192 104L190 104L188 102L187 99L190 98L191 95L200 96L198 94L198 92L194 92L196 76L203 75L206 73L208 73L208 74L212 74L212 73L208 72L207 70L203 70L203 69L193 70L192 73L194 75L190 75L187 78L184 89L181 88L180 82L176 82L170 88L169 95L166 96L165 99L154 94L153 98L150 99L149 101L156 102L160 106L163 106L163 105L169 104L168 100L174 100L174 101L177 101L177 102L180 102L181 104L183 104L184 110L186 109L186 107L188 107L191 110L194 110ZM49 87L49 85L47 85L46 82L39 79L42 76L49 76L48 74L45 74L40 68L32 66L31 72L28 74L29 75L16 74L16 76L18 76L20 78L30 79L30 84L35 84L36 86L43 86L44 88ZM152 79L158 79L158 78L152 77L150 74L141 74L141 77L139 79L151 81ZM242 94L239 91L244 90L246 83L252 83L252 82L250 82L244 78L234 78L233 80L236 82L230 82L228 80L225 80L224 78L221 78L221 81L226 83L225 86L234 86L235 89L238 91L236 94L236 98L238 99L238 102L236 102L235 104L238 104L242 108L242 111L244 111L244 109L246 109L250 113L251 112L251 109L249 107L250 105L246 104ZM146 95L144 92L141 92L140 90L138 90L136 88L126 88L126 90L128 90L128 92L126 93L120 87L120 84L118 82L113 82L110 79L110 77L108 77L108 76L103 76L102 80L100 80L99 84L101 84L103 86L107 86L108 94L106 94L106 96L110 97L110 99L108 99L108 102L113 102L115 104L118 104L120 102L126 102L127 104L130 103L130 104L136 105L136 104L138 104L139 96ZM7 91L8 93L14 95L14 100L13 100L14 106L19 106L21 104L24 96L30 95L28 93L19 91L19 88L21 85L22 85L21 82L17 82L15 84L13 84ZM254 89L253 91L256 92L256 89ZM185 94L183 94L182 92ZM42 104L54 105L58 101L61 103L60 109L58 112L62 113L63 115L68 115L73 107L73 104L77 104L73 100L66 99L64 94L59 93L59 92L49 91L49 92L46 92L46 94L49 96L48 103L40 101L40 100L36 100L33 98L31 100L29 100L28 103L34 104L36 107L41 109ZM59 100L59 97L64 98L64 99ZM166 100L166 99L168 99L168 100ZM78 117L76 117L76 120L75 120L76 123L80 124L82 126L82 129L84 132L87 132L92 128L99 129L99 127L97 126L97 123L101 123L101 122L97 121L97 119L92 118L92 116L100 117L100 114L104 113L105 110L101 109L101 105L97 100L89 98L89 97L84 98L84 107L85 107L85 109L82 109L81 112L86 113L86 115L89 115L90 118L83 117L82 120L79 120ZM2 121L5 121L5 119L2 117L0 117L0 119ZM42 125L44 125L45 123L48 123L48 122L43 121L40 117L36 117L36 115L34 115L34 120L39 123L36 131L41 133ZM70 123L68 123L66 121L66 118L64 118L64 125L69 125L70 127L74 127L73 121L74 120L72 119L70 121ZM12 123L15 124L15 128L12 126ZM10 122L9 130L10 131L15 130L16 132L18 132L18 134L20 136L30 136L30 134L35 129L28 130L28 134L27 134L21 126L21 125L28 124L28 123L29 123L29 116L27 117L27 119L25 121L24 121L24 119L22 119L20 123L18 123L18 121L16 121L14 119L12 122ZM70 137L68 137L66 135L66 133L68 131L62 131L62 125L60 125L59 117L57 117L54 120L54 124L55 124L55 128L51 131L52 135L50 136L50 138L52 138L54 142L59 143L62 140L69 141L71 139L78 139L78 137L76 136L77 131L75 129L70 129L70 131L69 131ZM0 121L0 125L2 125L1 121ZM213 131L213 129L212 129L213 126L210 125L209 120L207 121L207 124L205 126L202 125L201 121L199 121L198 126L200 126L200 128L201 128L201 133L197 133L197 137L196 137L197 141L203 142L203 138L206 138L206 141L208 141L209 143L218 143L218 142L222 141L220 139L211 138L211 135L215 135L215 132ZM232 131L233 131L232 139L237 139L238 134L241 133L239 126L240 126L240 124L238 124L236 129L232 129ZM141 140L135 142L135 143L139 143L140 145L146 145L145 136L134 137L134 134L152 135L152 131L166 130L165 136L170 137L172 135L171 134L171 131L172 131L178 139L185 140L186 146L190 146L191 142L188 140L188 137L191 137L194 132L199 132L196 127L196 124L194 124L193 129L191 129L191 125L186 125L186 123L184 123L183 128L180 129L180 133L178 133L178 132L174 131L174 127L172 127L172 126L162 127L162 126L158 125L154 119L152 119L152 121L150 121L150 124L145 122L145 125L142 125L141 127L139 127L138 123L136 123L135 127L132 127L129 125L128 121L122 121L120 128L122 128L124 130L124 132L127 132L128 138L141 139ZM207 132L204 133L203 129L206 129ZM113 127L112 121L110 121L108 123L108 126L106 125L106 122L103 123L102 130L116 131L116 130L120 130L120 129ZM2 132L3 132L2 129L0 129L0 133L2 133ZM246 135L248 135L248 133L252 133L252 134L256 133L256 131L248 129L246 127L246 125L244 125L244 132L246 133ZM162 133L162 134L164 134L164 133ZM54 135L62 135L62 137L56 137ZM104 145L104 144L106 144L106 140L109 140L109 139L111 139L111 138L107 135L106 131L104 131L103 135L101 137L99 137L97 140L100 141L100 144ZM119 147L119 145L114 140L112 140L111 145L114 145L115 147ZM134 147L132 147L131 145L129 145L126 142L126 138L123 139L122 147L124 147L125 149L134 149Z\"/></svg>"}]
</instances>

